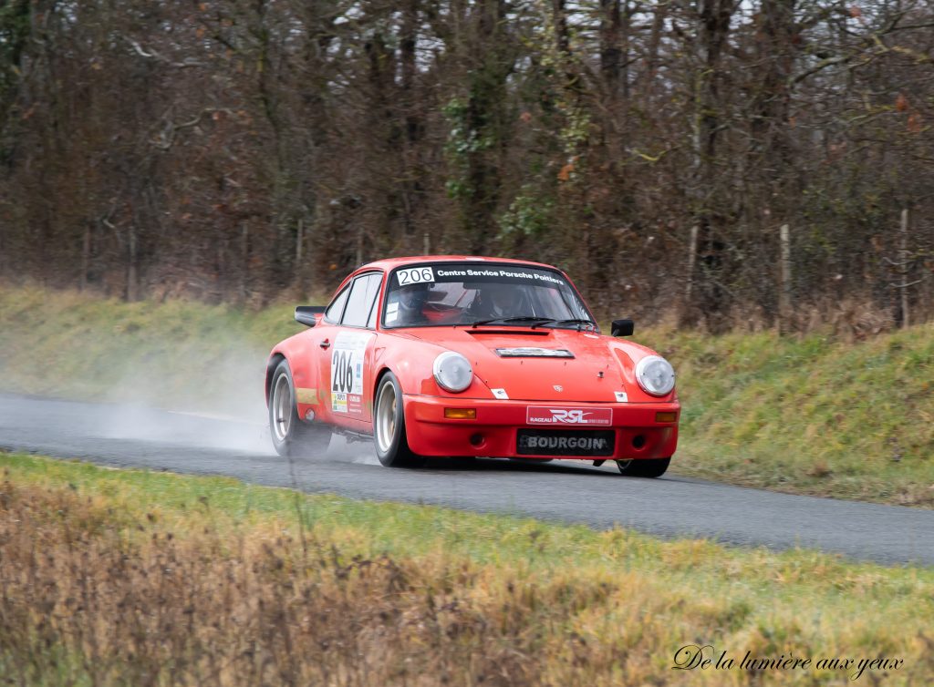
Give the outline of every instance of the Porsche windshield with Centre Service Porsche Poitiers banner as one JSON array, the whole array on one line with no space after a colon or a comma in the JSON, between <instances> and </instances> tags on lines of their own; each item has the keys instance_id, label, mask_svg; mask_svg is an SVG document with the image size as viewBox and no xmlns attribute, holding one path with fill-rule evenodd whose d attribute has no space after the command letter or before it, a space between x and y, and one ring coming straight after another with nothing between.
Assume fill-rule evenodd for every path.
<instances>
[{"instance_id":1,"label":"Porsche windshield with Centre Service Porsche Poitiers banner","mask_svg":"<svg viewBox=\"0 0 934 687\"><path fill-rule=\"evenodd\" d=\"M383 326L595 328L587 306L554 270L501 263L434 262L389 277Z\"/></svg>"}]
</instances>

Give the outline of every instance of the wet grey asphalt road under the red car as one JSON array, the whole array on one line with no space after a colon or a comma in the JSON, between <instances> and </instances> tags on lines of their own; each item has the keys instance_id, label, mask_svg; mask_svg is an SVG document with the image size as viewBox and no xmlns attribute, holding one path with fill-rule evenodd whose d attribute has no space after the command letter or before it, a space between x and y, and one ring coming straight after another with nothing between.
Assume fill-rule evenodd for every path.
<instances>
[{"instance_id":1,"label":"wet grey asphalt road under the red car","mask_svg":"<svg viewBox=\"0 0 934 687\"><path fill-rule=\"evenodd\" d=\"M776 494L666 475L624 478L611 464L435 460L381 467L368 442L334 439L326 456L276 456L259 424L117 405L0 395L0 447L115 467L222 474L353 498L506 512L665 538L800 546L884 564L934 565L934 511Z\"/></svg>"}]
</instances>

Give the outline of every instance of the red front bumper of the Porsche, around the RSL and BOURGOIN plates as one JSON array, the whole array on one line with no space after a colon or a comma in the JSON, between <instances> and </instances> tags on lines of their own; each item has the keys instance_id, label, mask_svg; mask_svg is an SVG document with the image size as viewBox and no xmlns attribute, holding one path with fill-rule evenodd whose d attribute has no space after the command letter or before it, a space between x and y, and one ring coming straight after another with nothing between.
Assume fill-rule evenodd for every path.
<instances>
[{"instance_id":1,"label":"red front bumper of the Porsche, around the RSL and BOURGOIN plates","mask_svg":"<svg viewBox=\"0 0 934 687\"><path fill-rule=\"evenodd\" d=\"M530 406L549 409L613 410L610 426L555 425L527 422ZM406 438L418 456L495 456L502 458L569 458L623 460L668 458L678 444L679 403L550 403L527 400L452 399L403 395ZM445 417L446 408L474 408L476 419ZM658 422L656 414L674 413L673 422ZM517 452L517 429L612 429L612 456L528 455Z\"/></svg>"}]
</instances>

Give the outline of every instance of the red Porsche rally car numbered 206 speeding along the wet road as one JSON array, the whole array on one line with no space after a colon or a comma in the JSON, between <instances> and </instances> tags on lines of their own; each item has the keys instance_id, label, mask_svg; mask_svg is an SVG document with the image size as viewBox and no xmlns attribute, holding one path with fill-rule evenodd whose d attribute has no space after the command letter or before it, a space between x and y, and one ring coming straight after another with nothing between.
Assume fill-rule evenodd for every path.
<instances>
[{"instance_id":1,"label":"red Porsche rally car numbered 206 speeding along the wet road","mask_svg":"<svg viewBox=\"0 0 934 687\"><path fill-rule=\"evenodd\" d=\"M616 460L658 477L680 405L664 358L601 334L560 270L512 259L371 262L308 328L276 345L266 402L276 451L322 451L333 432L371 437L383 465L425 456Z\"/></svg>"}]
</instances>

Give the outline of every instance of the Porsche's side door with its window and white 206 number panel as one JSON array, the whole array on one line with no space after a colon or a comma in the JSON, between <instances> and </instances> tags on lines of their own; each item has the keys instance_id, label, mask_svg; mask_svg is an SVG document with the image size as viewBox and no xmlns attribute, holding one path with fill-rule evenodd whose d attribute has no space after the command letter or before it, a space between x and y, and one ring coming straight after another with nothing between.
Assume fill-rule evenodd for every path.
<instances>
[{"instance_id":1,"label":"Porsche's side door with its window and white 206 number panel","mask_svg":"<svg viewBox=\"0 0 934 687\"><path fill-rule=\"evenodd\" d=\"M319 346L318 379L327 389L324 410L335 425L365 430L372 418L372 394L368 391L373 385L376 338L373 312L382 279L383 273L379 272L354 277L345 289L347 298L340 319ZM334 305L339 303L335 300ZM336 319L336 311L333 316Z\"/></svg>"}]
</instances>

